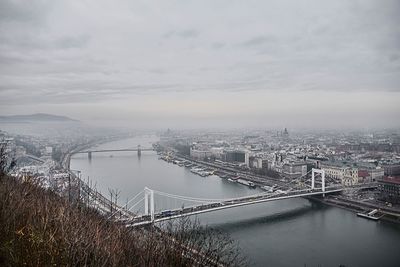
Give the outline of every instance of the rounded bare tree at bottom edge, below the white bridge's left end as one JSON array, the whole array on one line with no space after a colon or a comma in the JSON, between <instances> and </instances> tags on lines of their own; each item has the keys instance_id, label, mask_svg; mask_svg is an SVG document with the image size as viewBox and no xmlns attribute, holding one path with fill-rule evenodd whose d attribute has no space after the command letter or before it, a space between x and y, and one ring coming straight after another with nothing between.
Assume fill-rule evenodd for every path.
<instances>
[{"instance_id":1,"label":"rounded bare tree at bottom edge, below the white bridge's left end","mask_svg":"<svg viewBox=\"0 0 400 267\"><path fill-rule=\"evenodd\" d=\"M144 255L155 265L244 266L247 260L228 234L188 217L147 229ZM159 242L155 243L155 240ZM159 254L161 253L161 254ZM162 257L158 256L162 255Z\"/></svg>"}]
</instances>

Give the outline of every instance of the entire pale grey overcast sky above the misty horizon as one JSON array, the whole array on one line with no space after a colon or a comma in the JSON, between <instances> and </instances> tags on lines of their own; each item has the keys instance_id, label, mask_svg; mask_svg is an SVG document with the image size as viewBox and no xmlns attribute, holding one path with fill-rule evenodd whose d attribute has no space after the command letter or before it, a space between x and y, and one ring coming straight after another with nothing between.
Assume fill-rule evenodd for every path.
<instances>
[{"instance_id":1,"label":"entire pale grey overcast sky above the misty horizon","mask_svg":"<svg viewBox=\"0 0 400 267\"><path fill-rule=\"evenodd\" d=\"M400 1L0 0L0 114L400 126Z\"/></svg>"}]
</instances>

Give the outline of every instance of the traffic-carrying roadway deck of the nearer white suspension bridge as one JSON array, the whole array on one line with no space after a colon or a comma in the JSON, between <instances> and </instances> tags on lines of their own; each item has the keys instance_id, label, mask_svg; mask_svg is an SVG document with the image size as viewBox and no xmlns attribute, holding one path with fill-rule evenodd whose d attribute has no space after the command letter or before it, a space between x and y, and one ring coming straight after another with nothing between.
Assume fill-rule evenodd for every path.
<instances>
[{"instance_id":1,"label":"traffic-carrying roadway deck of the nearer white suspension bridge","mask_svg":"<svg viewBox=\"0 0 400 267\"><path fill-rule=\"evenodd\" d=\"M370 189L375 188L376 183L371 184L362 184L355 185L352 187L342 187L342 186L330 186L326 187L326 190L323 192L321 188L318 189L303 189L296 190L292 192L283 192L283 193L261 193L257 195L245 196L240 198L232 198L223 200L221 202L213 202L205 205L192 206L183 209L174 209L168 211L162 211L154 214L154 221L151 221L151 215L140 215L132 220L125 221L128 227L136 227L141 225L148 225L154 222L162 222L166 220L176 219L185 216L191 216L206 212L218 211L222 209L235 208L240 206L252 205L257 203L269 202L269 201L277 201L289 198L296 197L308 197L308 196L316 196L316 195L325 195L331 193L338 193L347 189Z\"/></svg>"}]
</instances>

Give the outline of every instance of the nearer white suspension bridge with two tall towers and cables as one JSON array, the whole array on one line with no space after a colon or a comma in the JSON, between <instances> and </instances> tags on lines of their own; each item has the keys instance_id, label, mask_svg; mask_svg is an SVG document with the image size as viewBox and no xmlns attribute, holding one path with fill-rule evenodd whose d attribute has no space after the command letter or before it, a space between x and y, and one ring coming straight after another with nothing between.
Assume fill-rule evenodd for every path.
<instances>
[{"instance_id":1,"label":"nearer white suspension bridge with two tall towers and cables","mask_svg":"<svg viewBox=\"0 0 400 267\"><path fill-rule=\"evenodd\" d=\"M307 178L309 173L311 173L311 178ZM318 179L317 181L316 178L320 178L320 180ZM316 184L318 184L318 187L316 187ZM119 207L110 215L110 218L116 218L119 222L129 227L136 227L257 203L296 197L325 196L325 194L338 193L347 188L367 189L372 187L376 187L376 185L362 184L346 188L341 184L326 186L325 172L320 169L312 169L307 174L287 183L285 188L280 187L280 189L285 189L285 191L276 188L278 190L274 192L263 192L237 198L218 199L181 196L146 187L126 203L126 208ZM157 203L156 197L160 198L160 201ZM120 216L118 217L116 214ZM132 214L135 215L132 216Z\"/></svg>"}]
</instances>

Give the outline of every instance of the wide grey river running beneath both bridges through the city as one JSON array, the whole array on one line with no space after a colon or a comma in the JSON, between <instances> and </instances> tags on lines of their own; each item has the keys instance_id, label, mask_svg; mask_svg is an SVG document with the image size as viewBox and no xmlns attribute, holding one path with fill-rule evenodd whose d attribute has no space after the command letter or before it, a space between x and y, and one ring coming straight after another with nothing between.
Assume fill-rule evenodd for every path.
<instances>
[{"instance_id":1,"label":"wide grey river running beneath both bridges through the city","mask_svg":"<svg viewBox=\"0 0 400 267\"><path fill-rule=\"evenodd\" d=\"M141 136L96 146L102 149L150 147L155 136ZM200 177L187 168L159 160L155 152L76 154L71 169L90 177L96 188L120 190L124 204L145 186L198 198L229 198L260 192L217 176ZM156 199L158 208L182 205ZM137 207L139 207L138 205ZM143 206L143 205L142 205ZM357 217L353 212L288 199L200 215L201 223L227 232L251 266L400 266L400 226Z\"/></svg>"}]
</instances>

